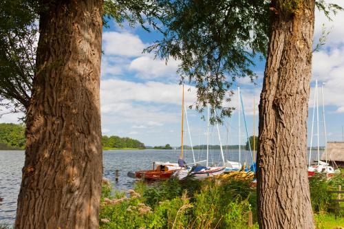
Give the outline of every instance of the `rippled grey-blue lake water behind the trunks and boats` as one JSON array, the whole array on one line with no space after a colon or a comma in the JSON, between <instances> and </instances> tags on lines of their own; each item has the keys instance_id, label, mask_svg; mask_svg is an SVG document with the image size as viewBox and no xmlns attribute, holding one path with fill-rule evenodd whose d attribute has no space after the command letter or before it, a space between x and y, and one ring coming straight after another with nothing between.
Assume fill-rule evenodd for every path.
<instances>
[{"instance_id":1,"label":"rippled grey-blue lake water behind the trunks and boats","mask_svg":"<svg viewBox=\"0 0 344 229\"><path fill-rule=\"evenodd\" d=\"M132 188L134 179L127 177L129 171L137 171L151 168L153 161L177 162L180 151L173 150L140 150L140 151L104 151L103 166L104 177L111 180L114 189L127 190ZM193 162L191 151L185 151L185 161ZM314 157L316 156L315 153ZM17 197L21 184L21 168L24 164L24 151L0 151L0 223L12 224L15 219L17 208ZM228 160L237 161L239 152L230 150L225 153ZM206 160L205 151L195 151L196 161ZM241 152L241 163L247 160L252 162L250 153ZM210 164L221 161L219 150L211 151L209 155ZM115 171L119 170L119 181L115 182Z\"/></svg>"}]
</instances>

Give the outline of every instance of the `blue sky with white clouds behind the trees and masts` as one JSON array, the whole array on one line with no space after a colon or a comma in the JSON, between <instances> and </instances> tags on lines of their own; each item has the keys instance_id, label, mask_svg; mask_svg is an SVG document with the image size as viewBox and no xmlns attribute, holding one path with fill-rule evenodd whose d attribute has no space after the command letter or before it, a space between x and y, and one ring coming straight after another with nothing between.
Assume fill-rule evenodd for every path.
<instances>
[{"instance_id":1,"label":"blue sky with white clouds behind the trees and masts","mask_svg":"<svg viewBox=\"0 0 344 229\"><path fill-rule=\"evenodd\" d=\"M343 6L341 0L331 1ZM145 47L160 39L158 32L146 32L139 26L119 27L110 21L110 28L103 30L103 57L101 65L100 106L103 135L118 135L140 140L147 146L181 144L182 86L176 74L179 61L155 59L153 54L142 54ZM344 12L339 12L333 21L316 11L314 44L318 43L323 25L330 30L325 45L313 54L310 112L308 119L308 144L310 145L312 113L314 108L314 84L319 80L319 141L324 145L323 107L321 86L323 86L325 125L327 140L342 140L344 126ZM210 127L210 143L245 144L247 135L253 134L253 113L255 107L255 134L258 133L258 102L261 82L264 76L264 61L257 61L255 72L259 76L257 85L247 78L238 80L243 96L247 133L241 114L241 135L238 113L224 120L219 126ZM234 85L234 90L236 90ZM255 100L255 106L253 101ZM195 102L195 88L185 85L186 106ZM237 94L230 106L237 107ZM22 113L1 116L0 122L18 122ZM206 121L202 114L187 110L189 128L184 123L184 144L206 143ZM313 146L317 144L316 114ZM189 131L191 135L189 135ZM191 138L190 138L191 137Z\"/></svg>"}]
</instances>

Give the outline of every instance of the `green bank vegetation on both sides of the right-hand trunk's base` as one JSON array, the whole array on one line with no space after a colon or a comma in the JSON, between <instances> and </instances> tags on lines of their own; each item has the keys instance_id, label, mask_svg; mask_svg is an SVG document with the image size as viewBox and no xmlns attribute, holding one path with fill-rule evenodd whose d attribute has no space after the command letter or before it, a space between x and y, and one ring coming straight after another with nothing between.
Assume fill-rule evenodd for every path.
<instances>
[{"instance_id":1,"label":"green bank vegetation on both sides of the right-hand trunk's base","mask_svg":"<svg viewBox=\"0 0 344 229\"><path fill-rule=\"evenodd\" d=\"M310 179L316 229L344 226L344 212L332 212L336 195L328 193L338 184L344 184L343 175L330 180L321 176ZM103 188L100 228L248 228L250 210L252 228L258 228L256 190L241 180L169 179L155 186L138 182L128 195L112 196L108 184Z\"/></svg>"}]
</instances>

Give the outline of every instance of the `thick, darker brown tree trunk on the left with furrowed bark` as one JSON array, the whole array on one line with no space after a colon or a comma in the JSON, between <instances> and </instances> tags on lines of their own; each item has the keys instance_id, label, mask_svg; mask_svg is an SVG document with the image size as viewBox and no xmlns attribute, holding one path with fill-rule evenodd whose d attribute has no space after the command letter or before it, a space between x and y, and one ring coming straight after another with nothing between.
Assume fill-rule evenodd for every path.
<instances>
[{"instance_id":1,"label":"thick, darker brown tree trunk on the left with furrowed bark","mask_svg":"<svg viewBox=\"0 0 344 229\"><path fill-rule=\"evenodd\" d=\"M103 1L43 0L16 228L98 228Z\"/></svg>"}]
</instances>

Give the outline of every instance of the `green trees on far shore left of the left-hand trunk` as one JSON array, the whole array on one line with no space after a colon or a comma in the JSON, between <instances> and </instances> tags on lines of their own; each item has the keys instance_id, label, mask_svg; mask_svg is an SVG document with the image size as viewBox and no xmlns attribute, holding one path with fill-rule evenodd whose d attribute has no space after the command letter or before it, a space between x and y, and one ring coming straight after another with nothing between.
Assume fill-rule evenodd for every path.
<instances>
[{"instance_id":1,"label":"green trees on far shore left of the left-hand trunk","mask_svg":"<svg viewBox=\"0 0 344 229\"><path fill-rule=\"evenodd\" d=\"M24 149L25 126L23 124L0 123L1 149Z\"/></svg>"}]
</instances>

